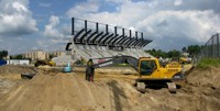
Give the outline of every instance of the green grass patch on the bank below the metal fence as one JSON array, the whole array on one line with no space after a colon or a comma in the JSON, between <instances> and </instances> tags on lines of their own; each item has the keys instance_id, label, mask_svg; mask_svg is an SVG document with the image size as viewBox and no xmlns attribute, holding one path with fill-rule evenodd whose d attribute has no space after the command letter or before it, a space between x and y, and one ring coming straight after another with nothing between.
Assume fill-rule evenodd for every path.
<instances>
[{"instance_id":1,"label":"green grass patch on the bank below the metal fence","mask_svg":"<svg viewBox=\"0 0 220 111\"><path fill-rule=\"evenodd\" d=\"M202 58L198 63L197 67L199 68L210 68L212 66L220 66L220 59L218 58Z\"/></svg>"}]
</instances>

